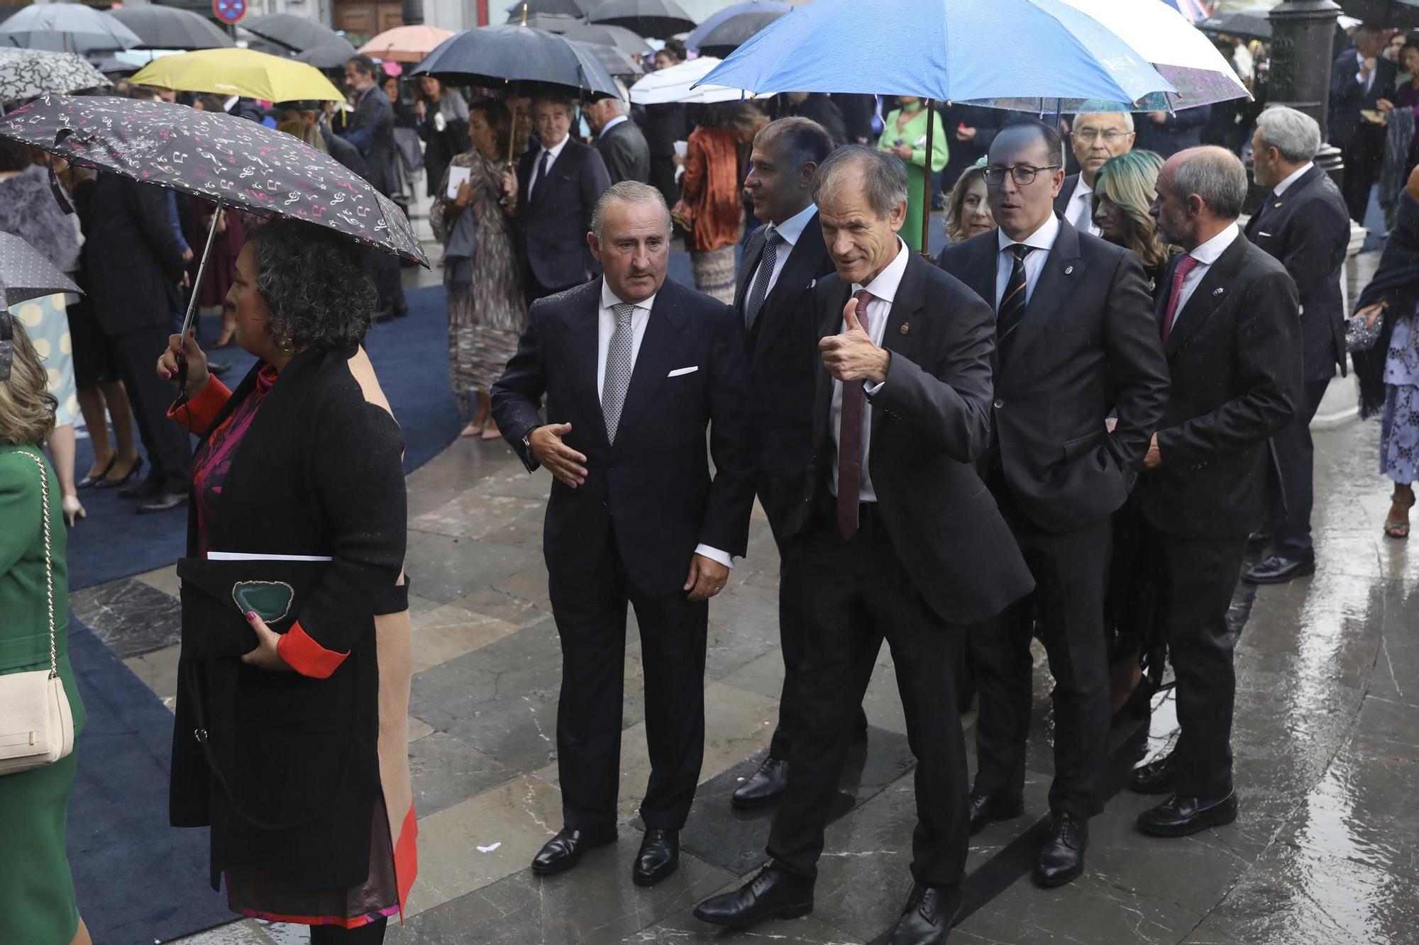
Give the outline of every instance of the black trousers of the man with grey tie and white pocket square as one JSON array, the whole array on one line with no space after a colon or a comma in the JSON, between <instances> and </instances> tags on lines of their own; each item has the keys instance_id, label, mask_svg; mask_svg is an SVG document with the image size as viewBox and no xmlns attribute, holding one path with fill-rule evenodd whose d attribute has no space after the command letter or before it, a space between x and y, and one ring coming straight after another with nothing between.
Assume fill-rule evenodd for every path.
<instances>
[{"instance_id":1,"label":"black trousers of the man with grey tie and white pocket square","mask_svg":"<svg viewBox=\"0 0 1419 945\"><path fill-rule=\"evenodd\" d=\"M647 827L681 829L704 759L708 602L691 603L680 590L663 597L636 590L614 538L606 539L596 573L578 576L575 586L552 580L551 597L562 639L556 765L565 824L616 823L629 603L640 626L650 749L640 816Z\"/></svg>"}]
</instances>

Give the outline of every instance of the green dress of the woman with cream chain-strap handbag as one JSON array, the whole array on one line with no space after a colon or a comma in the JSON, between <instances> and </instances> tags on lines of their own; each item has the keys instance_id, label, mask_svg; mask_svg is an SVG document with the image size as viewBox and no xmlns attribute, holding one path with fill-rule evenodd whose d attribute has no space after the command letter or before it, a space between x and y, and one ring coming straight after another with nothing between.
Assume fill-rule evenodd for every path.
<instances>
[{"instance_id":1,"label":"green dress of the woman with cream chain-strap handbag","mask_svg":"<svg viewBox=\"0 0 1419 945\"><path fill-rule=\"evenodd\" d=\"M43 457L34 447L0 443L0 675L40 670L50 664L50 607L40 467L21 453ZM50 545L54 555L54 630L60 677L74 712L74 729L84 726L84 702L68 656L70 578L67 536L60 511L60 485L48 463ZM64 851L64 829L78 751L54 765L18 775L0 775L0 942L68 945L78 931L74 878Z\"/></svg>"}]
</instances>

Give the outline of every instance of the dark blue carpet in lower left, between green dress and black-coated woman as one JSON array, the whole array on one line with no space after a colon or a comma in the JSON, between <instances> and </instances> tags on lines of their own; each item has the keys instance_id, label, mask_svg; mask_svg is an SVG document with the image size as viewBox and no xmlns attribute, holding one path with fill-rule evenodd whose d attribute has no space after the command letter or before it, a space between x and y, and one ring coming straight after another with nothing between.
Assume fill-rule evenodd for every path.
<instances>
[{"instance_id":1,"label":"dark blue carpet in lower left, between green dress and black-coated woman","mask_svg":"<svg viewBox=\"0 0 1419 945\"><path fill-rule=\"evenodd\" d=\"M70 660L89 719L68 851L94 941L138 945L233 921L207 884L207 831L167 826L172 712L72 614Z\"/></svg>"}]
</instances>

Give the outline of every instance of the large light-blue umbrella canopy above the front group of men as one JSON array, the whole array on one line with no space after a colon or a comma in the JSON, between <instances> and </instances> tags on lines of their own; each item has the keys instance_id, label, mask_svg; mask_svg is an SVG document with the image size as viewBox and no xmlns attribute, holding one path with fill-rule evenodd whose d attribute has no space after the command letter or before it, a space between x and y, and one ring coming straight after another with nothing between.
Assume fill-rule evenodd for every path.
<instances>
[{"instance_id":1,"label":"large light-blue umbrella canopy above the front group of men","mask_svg":"<svg viewBox=\"0 0 1419 945\"><path fill-rule=\"evenodd\" d=\"M1010 43L982 44L1002 23ZM1176 92L1061 0L816 0L771 23L705 79L752 92L918 95L1032 112L1059 99L1132 104Z\"/></svg>"}]
</instances>

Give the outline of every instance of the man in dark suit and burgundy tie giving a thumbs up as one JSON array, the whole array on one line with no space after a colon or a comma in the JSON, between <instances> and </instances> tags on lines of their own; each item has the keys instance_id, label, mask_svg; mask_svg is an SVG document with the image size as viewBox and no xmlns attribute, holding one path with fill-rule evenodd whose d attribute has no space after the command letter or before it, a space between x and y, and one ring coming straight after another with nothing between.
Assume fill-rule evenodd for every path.
<instances>
[{"instance_id":1,"label":"man in dark suit and burgundy tie giving a thumbs up","mask_svg":"<svg viewBox=\"0 0 1419 945\"><path fill-rule=\"evenodd\" d=\"M810 626L802 726L768 851L736 892L695 915L749 928L813 908L817 858L847 742L885 639L917 756L914 887L894 945L945 941L966 861L966 759L955 677L965 624L1032 582L975 461L990 441L990 306L897 231L907 172L850 145L817 170L815 201L837 270L819 280L822 368L802 535Z\"/></svg>"}]
</instances>

